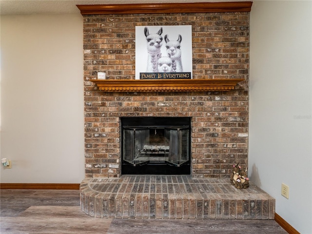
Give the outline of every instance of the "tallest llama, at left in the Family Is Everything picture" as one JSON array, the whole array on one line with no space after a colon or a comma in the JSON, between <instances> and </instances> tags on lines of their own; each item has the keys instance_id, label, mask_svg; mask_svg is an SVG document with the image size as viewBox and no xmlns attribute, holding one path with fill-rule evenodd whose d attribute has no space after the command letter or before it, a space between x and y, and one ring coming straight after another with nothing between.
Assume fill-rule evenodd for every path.
<instances>
[{"instance_id":1,"label":"tallest llama, at left in the Family Is Everything picture","mask_svg":"<svg viewBox=\"0 0 312 234\"><path fill-rule=\"evenodd\" d=\"M146 72L157 72L157 61L162 46L162 27L155 34L150 34L148 28L144 28L144 35L147 41L147 68Z\"/></svg>"}]
</instances>

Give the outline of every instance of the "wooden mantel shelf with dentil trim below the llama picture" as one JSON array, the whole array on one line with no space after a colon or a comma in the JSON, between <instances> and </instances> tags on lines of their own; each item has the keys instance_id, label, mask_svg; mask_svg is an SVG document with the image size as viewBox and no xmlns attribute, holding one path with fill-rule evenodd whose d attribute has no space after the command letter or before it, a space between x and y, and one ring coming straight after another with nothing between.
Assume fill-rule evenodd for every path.
<instances>
[{"instance_id":1,"label":"wooden mantel shelf with dentil trim below the llama picture","mask_svg":"<svg viewBox=\"0 0 312 234\"><path fill-rule=\"evenodd\" d=\"M106 92L229 91L244 79L91 79Z\"/></svg>"}]
</instances>

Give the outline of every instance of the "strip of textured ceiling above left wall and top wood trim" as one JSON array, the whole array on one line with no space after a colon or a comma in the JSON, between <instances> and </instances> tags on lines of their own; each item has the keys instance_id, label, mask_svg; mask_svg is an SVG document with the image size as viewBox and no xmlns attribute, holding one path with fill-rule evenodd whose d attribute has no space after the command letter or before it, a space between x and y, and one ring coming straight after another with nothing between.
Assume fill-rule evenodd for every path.
<instances>
[{"instance_id":1,"label":"strip of textured ceiling above left wall and top wood trim","mask_svg":"<svg viewBox=\"0 0 312 234\"><path fill-rule=\"evenodd\" d=\"M1 15L21 14L79 14L76 5L134 4L134 3L181 3L244 0L0 0Z\"/></svg>"}]
</instances>

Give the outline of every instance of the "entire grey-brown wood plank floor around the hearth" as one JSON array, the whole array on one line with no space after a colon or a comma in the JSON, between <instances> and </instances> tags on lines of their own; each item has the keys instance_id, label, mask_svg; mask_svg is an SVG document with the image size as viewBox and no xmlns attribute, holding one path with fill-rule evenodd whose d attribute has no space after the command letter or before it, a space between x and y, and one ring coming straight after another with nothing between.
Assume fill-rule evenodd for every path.
<instances>
[{"instance_id":1,"label":"entire grey-brown wood plank floor around the hearth","mask_svg":"<svg viewBox=\"0 0 312 234\"><path fill-rule=\"evenodd\" d=\"M1 190L0 205L1 234L287 234L274 220L94 218L78 190Z\"/></svg>"}]
</instances>

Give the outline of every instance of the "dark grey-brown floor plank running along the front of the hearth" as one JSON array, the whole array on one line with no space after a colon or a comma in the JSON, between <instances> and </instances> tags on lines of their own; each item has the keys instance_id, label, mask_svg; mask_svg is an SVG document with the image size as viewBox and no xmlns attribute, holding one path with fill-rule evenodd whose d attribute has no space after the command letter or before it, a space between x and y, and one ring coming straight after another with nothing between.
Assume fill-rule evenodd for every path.
<instances>
[{"instance_id":1,"label":"dark grey-brown floor plank running along the front of the hearth","mask_svg":"<svg viewBox=\"0 0 312 234\"><path fill-rule=\"evenodd\" d=\"M128 230L131 230L129 232ZM287 234L274 220L114 219L108 234Z\"/></svg>"}]
</instances>

